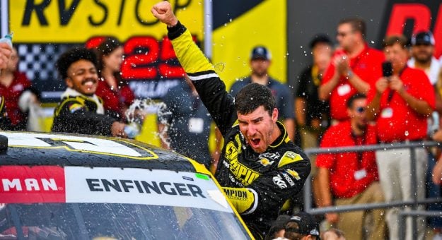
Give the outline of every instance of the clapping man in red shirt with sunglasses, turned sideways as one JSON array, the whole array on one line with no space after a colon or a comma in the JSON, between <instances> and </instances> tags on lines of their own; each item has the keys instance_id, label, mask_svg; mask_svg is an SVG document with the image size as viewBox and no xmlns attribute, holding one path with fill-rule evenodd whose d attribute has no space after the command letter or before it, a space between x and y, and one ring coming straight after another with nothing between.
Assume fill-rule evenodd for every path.
<instances>
[{"instance_id":1,"label":"clapping man in red shirt with sunglasses, turned sideways","mask_svg":"<svg viewBox=\"0 0 442 240\"><path fill-rule=\"evenodd\" d=\"M356 92L367 94L382 76L382 52L368 47L364 37L366 24L359 18L344 19L337 27L339 49L322 78L318 95L329 100L330 116L337 121L348 119L346 102Z\"/></svg>"}]
</instances>

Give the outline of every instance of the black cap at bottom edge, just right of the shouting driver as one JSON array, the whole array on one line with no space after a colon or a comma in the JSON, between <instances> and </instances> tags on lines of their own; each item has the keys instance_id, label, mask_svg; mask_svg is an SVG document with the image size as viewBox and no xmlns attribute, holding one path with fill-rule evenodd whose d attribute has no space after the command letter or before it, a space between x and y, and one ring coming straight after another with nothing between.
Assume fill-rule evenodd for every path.
<instances>
[{"instance_id":1,"label":"black cap at bottom edge, just right of the shouting driver","mask_svg":"<svg viewBox=\"0 0 442 240\"><path fill-rule=\"evenodd\" d=\"M312 236L319 236L319 224L315 220L315 217L308 214L307 212L298 212L292 217L290 217L290 220L287 222L296 222L298 224L298 228L287 228L286 232L296 232L298 234L303 235L312 235Z\"/></svg>"}]
</instances>

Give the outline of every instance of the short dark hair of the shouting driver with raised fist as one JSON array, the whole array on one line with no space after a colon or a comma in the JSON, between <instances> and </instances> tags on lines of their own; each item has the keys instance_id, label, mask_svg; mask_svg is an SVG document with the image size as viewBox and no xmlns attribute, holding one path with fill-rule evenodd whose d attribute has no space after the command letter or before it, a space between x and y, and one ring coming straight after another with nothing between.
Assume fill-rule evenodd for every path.
<instances>
[{"instance_id":1,"label":"short dark hair of the shouting driver with raised fist","mask_svg":"<svg viewBox=\"0 0 442 240\"><path fill-rule=\"evenodd\" d=\"M239 114L250 114L260 106L264 107L270 116L276 107L272 92L264 85L249 83L235 97L235 107Z\"/></svg>"}]
</instances>

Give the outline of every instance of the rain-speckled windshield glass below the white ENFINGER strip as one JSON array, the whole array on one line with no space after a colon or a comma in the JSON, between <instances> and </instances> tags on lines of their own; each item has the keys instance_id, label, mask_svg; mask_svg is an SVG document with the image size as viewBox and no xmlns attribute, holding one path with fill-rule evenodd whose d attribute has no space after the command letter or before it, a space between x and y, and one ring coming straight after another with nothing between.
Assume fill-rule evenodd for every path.
<instances>
[{"instance_id":1,"label":"rain-speckled windshield glass below the white ENFINGER strip","mask_svg":"<svg viewBox=\"0 0 442 240\"><path fill-rule=\"evenodd\" d=\"M21 231L17 231L21 229ZM233 212L120 203L4 204L0 239L249 239Z\"/></svg>"}]
</instances>

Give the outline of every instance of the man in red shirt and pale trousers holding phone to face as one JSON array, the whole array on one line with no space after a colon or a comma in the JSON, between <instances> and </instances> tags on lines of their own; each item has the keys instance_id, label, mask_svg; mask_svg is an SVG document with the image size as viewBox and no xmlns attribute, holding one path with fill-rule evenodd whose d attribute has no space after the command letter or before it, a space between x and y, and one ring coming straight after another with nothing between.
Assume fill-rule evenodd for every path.
<instances>
[{"instance_id":1,"label":"man in red shirt and pale trousers holding phone to face","mask_svg":"<svg viewBox=\"0 0 442 240\"><path fill-rule=\"evenodd\" d=\"M426 118L435 107L434 91L424 71L407 66L407 39L390 36L384 41L385 58L391 62L392 76L382 77L368 93L368 119L376 120L378 138L383 143L407 142L426 138ZM427 152L415 148L417 193L411 191L410 150L400 148L376 152L380 184L385 200L425 198ZM398 208L387 211L390 239L399 239ZM419 239L424 238L424 219L419 220ZM407 239L412 239L411 219L407 222Z\"/></svg>"}]
</instances>

